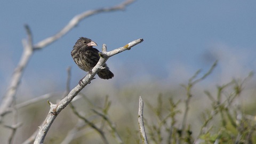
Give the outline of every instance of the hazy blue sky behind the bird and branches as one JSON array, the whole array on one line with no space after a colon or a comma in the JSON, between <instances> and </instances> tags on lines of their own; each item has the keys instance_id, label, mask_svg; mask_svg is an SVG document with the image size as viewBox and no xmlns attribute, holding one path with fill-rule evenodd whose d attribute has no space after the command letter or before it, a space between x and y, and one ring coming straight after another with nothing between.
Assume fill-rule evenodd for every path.
<instances>
[{"instance_id":1,"label":"hazy blue sky behind the bird and branches","mask_svg":"<svg viewBox=\"0 0 256 144\"><path fill-rule=\"evenodd\" d=\"M25 23L37 43L57 33L76 14L121 2L0 2L1 94L21 57ZM103 43L108 50L113 50L134 39L145 40L107 61L115 74L110 83L145 79L182 83L197 69L209 69L216 59L219 65L212 76L215 81L244 77L249 71L255 71L255 5L256 1L137 1L125 11L93 15L57 42L36 51L22 78L22 86L32 86L38 91L40 85L65 89L66 68L71 66L71 86L74 87L86 74L70 55L81 36L91 38L99 50ZM35 85L38 82L39 87Z\"/></svg>"}]
</instances>

